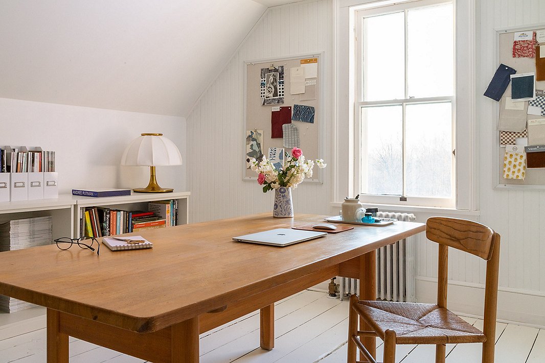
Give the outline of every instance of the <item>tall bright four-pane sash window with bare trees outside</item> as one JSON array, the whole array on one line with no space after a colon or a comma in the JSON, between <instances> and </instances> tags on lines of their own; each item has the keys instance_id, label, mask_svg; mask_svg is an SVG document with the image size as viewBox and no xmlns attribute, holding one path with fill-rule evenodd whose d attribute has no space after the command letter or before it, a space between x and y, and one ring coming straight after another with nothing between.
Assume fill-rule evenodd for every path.
<instances>
[{"instance_id":1,"label":"tall bright four-pane sash window with bare trees outside","mask_svg":"<svg viewBox=\"0 0 545 363\"><path fill-rule=\"evenodd\" d=\"M455 204L453 5L356 12L355 186L367 202Z\"/></svg>"}]
</instances>

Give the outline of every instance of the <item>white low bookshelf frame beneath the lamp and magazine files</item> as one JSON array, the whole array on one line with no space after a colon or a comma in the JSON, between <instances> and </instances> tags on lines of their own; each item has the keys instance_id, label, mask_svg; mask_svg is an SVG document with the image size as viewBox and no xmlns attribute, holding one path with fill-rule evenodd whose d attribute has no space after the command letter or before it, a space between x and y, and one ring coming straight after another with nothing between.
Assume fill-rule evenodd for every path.
<instances>
[{"instance_id":1,"label":"white low bookshelf frame beneath the lamp and magazine files","mask_svg":"<svg viewBox=\"0 0 545 363\"><path fill-rule=\"evenodd\" d=\"M177 199L178 225L187 224L190 194L190 192L132 193L106 198L60 194L57 199L0 202L0 223L13 219L51 216L53 239L68 236L74 238L80 233L82 207L147 210L147 203L150 201ZM38 306L15 313L0 312L0 340L45 328L45 311L44 307Z\"/></svg>"}]
</instances>

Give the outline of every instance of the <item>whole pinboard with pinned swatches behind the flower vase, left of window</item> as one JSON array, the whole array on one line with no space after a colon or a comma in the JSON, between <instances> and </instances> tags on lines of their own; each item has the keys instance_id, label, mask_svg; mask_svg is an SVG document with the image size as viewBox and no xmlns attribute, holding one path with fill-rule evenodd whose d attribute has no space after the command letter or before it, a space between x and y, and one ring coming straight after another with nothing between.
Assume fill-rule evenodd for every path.
<instances>
[{"instance_id":1,"label":"whole pinboard with pinned swatches behind the flower vase, left of window","mask_svg":"<svg viewBox=\"0 0 545 363\"><path fill-rule=\"evenodd\" d=\"M289 153L297 146L307 159L323 158L323 58L322 52L316 52L244 62L243 180L257 179L248 161L262 155L269 159L271 147ZM284 126L289 135L283 132L283 123L290 124ZM304 182L321 183L322 175L314 168L313 177Z\"/></svg>"}]
</instances>

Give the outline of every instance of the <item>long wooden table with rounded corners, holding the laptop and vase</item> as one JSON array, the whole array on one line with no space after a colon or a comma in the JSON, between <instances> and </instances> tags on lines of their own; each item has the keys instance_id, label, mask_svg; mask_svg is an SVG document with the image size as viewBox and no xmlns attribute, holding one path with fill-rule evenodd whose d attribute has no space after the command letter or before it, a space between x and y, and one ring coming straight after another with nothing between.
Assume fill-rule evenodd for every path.
<instances>
[{"instance_id":1,"label":"long wooden table with rounded corners, holding the laptop and vase","mask_svg":"<svg viewBox=\"0 0 545 363\"><path fill-rule=\"evenodd\" d=\"M324 222L256 214L142 235L153 248L100 255L47 245L0 253L0 294L47 308L47 362L69 361L69 336L155 363L199 361L199 333L255 310L261 347L274 348L274 303L334 276L359 278L376 298L377 248L425 230L422 223L353 230L274 247L234 236ZM373 352L374 338L364 344Z\"/></svg>"}]
</instances>

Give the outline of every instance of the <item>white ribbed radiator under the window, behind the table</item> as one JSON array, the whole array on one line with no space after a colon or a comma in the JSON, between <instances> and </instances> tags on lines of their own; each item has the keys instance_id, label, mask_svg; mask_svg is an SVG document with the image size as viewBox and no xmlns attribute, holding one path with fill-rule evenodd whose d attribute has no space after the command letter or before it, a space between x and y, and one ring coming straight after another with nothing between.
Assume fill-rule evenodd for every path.
<instances>
[{"instance_id":1,"label":"white ribbed radiator under the window, behind the table","mask_svg":"<svg viewBox=\"0 0 545 363\"><path fill-rule=\"evenodd\" d=\"M377 217L414 222L412 213L378 212ZM381 228L381 227L377 227ZM377 250L377 299L414 302L414 243L416 236L405 238ZM342 278L341 300L358 292L358 280Z\"/></svg>"}]
</instances>

